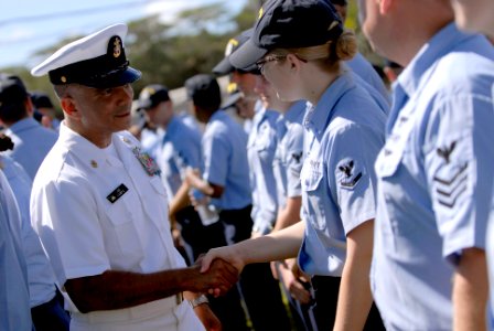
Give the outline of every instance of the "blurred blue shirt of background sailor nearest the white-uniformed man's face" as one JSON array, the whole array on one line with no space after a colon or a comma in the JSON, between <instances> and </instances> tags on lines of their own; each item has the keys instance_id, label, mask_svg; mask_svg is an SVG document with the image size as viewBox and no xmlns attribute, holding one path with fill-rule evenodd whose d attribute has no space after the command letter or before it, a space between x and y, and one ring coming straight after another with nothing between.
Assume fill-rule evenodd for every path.
<instances>
[{"instance_id":1,"label":"blurred blue shirt of background sailor nearest the white-uniformed man's face","mask_svg":"<svg viewBox=\"0 0 494 331\"><path fill-rule=\"evenodd\" d=\"M167 127L157 161L171 200L182 185L185 169L201 169L201 132L185 124L183 117L174 116Z\"/></svg>"}]
</instances>

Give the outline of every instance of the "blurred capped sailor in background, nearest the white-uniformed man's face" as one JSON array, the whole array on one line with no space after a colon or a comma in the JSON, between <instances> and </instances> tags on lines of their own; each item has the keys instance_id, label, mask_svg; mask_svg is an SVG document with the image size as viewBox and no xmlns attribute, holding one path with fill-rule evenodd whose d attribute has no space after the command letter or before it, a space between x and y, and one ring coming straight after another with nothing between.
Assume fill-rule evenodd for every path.
<instances>
[{"instance_id":1,"label":"blurred capped sailor in background, nearest the white-uniformed man's face","mask_svg":"<svg viewBox=\"0 0 494 331\"><path fill-rule=\"evenodd\" d=\"M169 90L163 85L146 86L139 95L139 107L146 111L148 120L163 131L154 154L170 200L175 246L191 263L202 253L225 243L222 226L204 226L194 207L183 204L189 201L189 188L184 183L186 169L202 168L201 131L186 122L189 118L175 115Z\"/></svg>"}]
</instances>

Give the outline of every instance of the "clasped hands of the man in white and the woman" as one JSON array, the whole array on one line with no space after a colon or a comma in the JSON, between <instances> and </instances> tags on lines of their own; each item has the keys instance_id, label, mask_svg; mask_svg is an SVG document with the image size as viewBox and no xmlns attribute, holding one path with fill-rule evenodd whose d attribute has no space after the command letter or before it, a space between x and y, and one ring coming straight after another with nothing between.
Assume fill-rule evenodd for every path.
<instances>
[{"instance_id":1,"label":"clasped hands of the man in white and the woman","mask_svg":"<svg viewBox=\"0 0 494 331\"><path fill-rule=\"evenodd\" d=\"M238 281L243 268L234 247L213 248L191 267L196 273L193 291L224 296Z\"/></svg>"}]
</instances>

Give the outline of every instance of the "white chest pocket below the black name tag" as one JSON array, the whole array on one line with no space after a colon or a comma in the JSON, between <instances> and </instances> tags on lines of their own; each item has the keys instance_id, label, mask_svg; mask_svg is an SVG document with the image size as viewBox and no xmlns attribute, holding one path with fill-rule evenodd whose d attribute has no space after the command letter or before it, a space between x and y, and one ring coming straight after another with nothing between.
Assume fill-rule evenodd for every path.
<instances>
[{"instance_id":1,"label":"white chest pocket below the black name tag","mask_svg":"<svg viewBox=\"0 0 494 331\"><path fill-rule=\"evenodd\" d=\"M130 192L129 192L130 193ZM109 236L109 250L114 250L116 260L125 259L125 264L137 264L143 255L142 245L136 228L136 214L131 207L130 194L125 194L108 205L105 213L109 220L112 235Z\"/></svg>"}]
</instances>

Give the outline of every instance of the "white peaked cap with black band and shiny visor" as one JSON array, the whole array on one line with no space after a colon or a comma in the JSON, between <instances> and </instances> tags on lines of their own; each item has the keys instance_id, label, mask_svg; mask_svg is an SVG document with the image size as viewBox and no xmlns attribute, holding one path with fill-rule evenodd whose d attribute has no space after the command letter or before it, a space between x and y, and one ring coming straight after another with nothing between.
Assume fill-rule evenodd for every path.
<instances>
[{"instance_id":1,"label":"white peaked cap with black band and shiny visor","mask_svg":"<svg viewBox=\"0 0 494 331\"><path fill-rule=\"evenodd\" d=\"M54 85L76 83L108 88L133 83L141 73L129 66L124 47L126 34L126 24L105 28L63 46L31 74L49 74Z\"/></svg>"}]
</instances>

